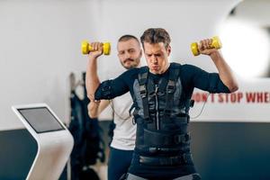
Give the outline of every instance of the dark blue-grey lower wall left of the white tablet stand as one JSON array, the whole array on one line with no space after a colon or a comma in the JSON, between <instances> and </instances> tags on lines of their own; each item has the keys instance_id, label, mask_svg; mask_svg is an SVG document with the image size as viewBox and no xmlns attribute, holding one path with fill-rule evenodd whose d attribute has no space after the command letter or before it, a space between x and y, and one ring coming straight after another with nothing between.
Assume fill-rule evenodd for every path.
<instances>
[{"instance_id":1,"label":"dark blue-grey lower wall left of the white tablet stand","mask_svg":"<svg viewBox=\"0 0 270 180\"><path fill-rule=\"evenodd\" d=\"M25 179L37 148L37 142L27 130L0 131L0 179Z\"/></svg>"}]
</instances>

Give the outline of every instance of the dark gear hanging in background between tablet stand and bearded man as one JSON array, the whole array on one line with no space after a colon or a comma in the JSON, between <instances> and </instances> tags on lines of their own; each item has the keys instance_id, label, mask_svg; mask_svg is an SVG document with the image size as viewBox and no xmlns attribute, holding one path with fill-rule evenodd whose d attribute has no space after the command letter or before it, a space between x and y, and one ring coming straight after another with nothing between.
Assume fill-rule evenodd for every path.
<instances>
[{"instance_id":1,"label":"dark gear hanging in background between tablet stand and bearded man","mask_svg":"<svg viewBox=\"0 0 270 180\"><path fill-rule=\"evenodd\" d=\"M88 115L87 104L90 102L86 95L85 72L78 80L71 73L69 83L71 121L68 130L74 138L74 148L70 155L71 180L99 180L92 166L98 161L105 161L105 145L99 121Z\"/></svg>"}]
</instances>

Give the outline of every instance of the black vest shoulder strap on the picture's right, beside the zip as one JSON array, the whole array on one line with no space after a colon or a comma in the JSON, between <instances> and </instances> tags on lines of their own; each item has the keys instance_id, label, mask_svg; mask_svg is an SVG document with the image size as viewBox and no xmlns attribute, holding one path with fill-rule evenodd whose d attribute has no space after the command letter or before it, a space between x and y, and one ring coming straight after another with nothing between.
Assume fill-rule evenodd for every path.
<instances>
[{"instance_id":1,"label":"black vest shoulder strap on the picture's right, beside the zip","mask_svg":"<svg viewBox=\"0 0 270 180\"><path fill-rule=\"evenodd\" d=\"M166 108L165 114L170 117L174 104L175 84L179 75L179 68L172 68L169 72L169 80L166 85Z\"/></svg>"}]
</instances>

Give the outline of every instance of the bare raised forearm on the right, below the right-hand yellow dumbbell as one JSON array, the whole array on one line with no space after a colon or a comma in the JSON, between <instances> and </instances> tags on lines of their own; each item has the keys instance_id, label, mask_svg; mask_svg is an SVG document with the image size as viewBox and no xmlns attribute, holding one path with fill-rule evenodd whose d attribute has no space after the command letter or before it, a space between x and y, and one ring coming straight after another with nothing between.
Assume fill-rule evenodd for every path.
<instances>
[{"instance_id":1,"label":"bare raised forearm on the right, below the right-hand yellow dumbbell","mask_svg":"<svg viewBox=\"0 0 270 180\"><path fill-rule=\"evenodd\" d=\"M233 72L225 59L221 56L219 51L213 52L210 55L215 66L218 68L220 79L224 85L229 88L229 91L235 92L238 90L238 83L236 78L233 76Z\"/></svg>"}]
</instances>

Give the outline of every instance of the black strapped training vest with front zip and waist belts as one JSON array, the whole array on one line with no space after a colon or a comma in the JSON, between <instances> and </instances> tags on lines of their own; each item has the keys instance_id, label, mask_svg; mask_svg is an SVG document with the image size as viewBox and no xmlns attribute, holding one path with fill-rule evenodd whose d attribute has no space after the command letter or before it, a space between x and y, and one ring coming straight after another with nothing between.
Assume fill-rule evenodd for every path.
<instances>
[{"instance_id":1,"label":"black strapped training vest with front zip and waist belts","mask_svg":"<svg viewBox=\"0 0 270 180\"><path fill-rule=\"evenodd\" d=\"M157 85L148 76L148 67L142 67L133 85L136 149L147 157L190 153L190 99L184 97L180 66L171 63L169 75L161 77Z\"/></svg>"}]
</instances>

